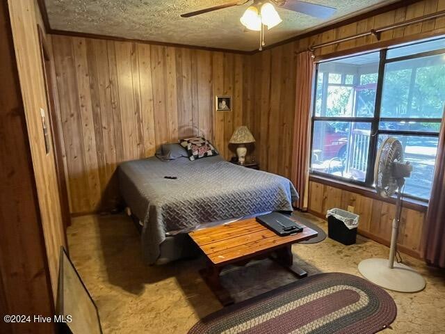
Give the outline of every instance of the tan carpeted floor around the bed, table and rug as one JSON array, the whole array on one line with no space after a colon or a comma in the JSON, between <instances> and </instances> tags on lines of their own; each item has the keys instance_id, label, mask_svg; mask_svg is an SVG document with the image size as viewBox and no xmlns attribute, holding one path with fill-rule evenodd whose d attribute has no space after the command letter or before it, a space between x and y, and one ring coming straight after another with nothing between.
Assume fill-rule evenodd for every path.
<instances>
[{"instance_id":1,"label":"tan carpeted floor around the bed, table and rug","mask_svg":"<svg viewBox=\"0 0 445 334\"><path fill-rule=\"evenodd\" d=\"M327 230L324 221L304 215ZM122 215L73 218L68 229L70 257L99 308L104 333L187 333L195 322L219 310L220 303L197 273L203 260L146 267L138 232ZM294 245L293 253L310 274L343 272L359 276L357 264L387 257L388 248L357 237L343 246L327 238L319 244ZM396 321L382 333L445 333L445 276L402 255L419 270L427 287L417 294L389 292L398 308ZM223 272L223 284L236 301L257 296L296 278L269 261L250 262Z\"/></svg>"}]
</instances>

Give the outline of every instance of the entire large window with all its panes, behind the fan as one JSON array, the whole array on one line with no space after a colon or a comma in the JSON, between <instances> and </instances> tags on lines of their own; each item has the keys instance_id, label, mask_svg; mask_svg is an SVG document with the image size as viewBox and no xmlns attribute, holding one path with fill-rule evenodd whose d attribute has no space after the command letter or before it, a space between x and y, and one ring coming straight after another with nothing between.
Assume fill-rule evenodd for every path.
<instances>
[{"instance_id":1,"label":"entire large window with all its panes, behind the fan","mask_svg":"<svg viewBox=\"0 0 445 334\"><path fill-rule=\"evenodd\" d=\"M428 200L445 103L445 38L318 63L311 172L373 185L388 136L414 167L405 194Z\"/></svg>"}]
</instances>

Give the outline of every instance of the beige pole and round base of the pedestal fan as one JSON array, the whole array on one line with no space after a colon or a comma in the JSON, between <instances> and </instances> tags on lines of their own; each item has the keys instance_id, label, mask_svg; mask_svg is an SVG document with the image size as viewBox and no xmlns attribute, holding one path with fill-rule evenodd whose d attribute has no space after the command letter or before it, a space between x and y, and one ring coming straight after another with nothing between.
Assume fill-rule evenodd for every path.
<instances>
[{"instance_id":1,"label":"beige pole and round base of the pedestal fan","mask_svg":"<svg viewBox=\"0 0 445 334\"><path fill-rule=\"evenodd\" d=\"M403 179L402 179L403 180ZM404 180L403 180L404 181ZM402 182L403 182L402 181ZM402 183L403 184L403 183ZM399 190L401 186L399 185ZM398 236L398 224L402 209L401 191L397 194L396 218L392 222L389 259L367 259L359 263L359 272L375 285L397 292L419 292L425 288L425 280L414 269L394 263Z\"/></svg>"}]
</instances>

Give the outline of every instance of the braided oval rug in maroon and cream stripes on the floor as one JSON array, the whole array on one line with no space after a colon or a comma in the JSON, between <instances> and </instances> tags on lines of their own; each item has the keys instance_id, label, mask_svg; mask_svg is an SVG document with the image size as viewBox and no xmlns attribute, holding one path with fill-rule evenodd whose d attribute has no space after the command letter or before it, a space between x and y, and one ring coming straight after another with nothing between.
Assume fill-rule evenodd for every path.
<instances>
[{"instance_id":1,"label":"braided oval rug in maroon and cream stripes on the floor","mask_svg":"<svg viewBox=\"0 0 445 334\"><path fill-rule=\"evenodd\" d=\"M188 333L367 334L396 314L384 289L347 273L321 273L219 310Z\"/></svg>"}]
</instances>

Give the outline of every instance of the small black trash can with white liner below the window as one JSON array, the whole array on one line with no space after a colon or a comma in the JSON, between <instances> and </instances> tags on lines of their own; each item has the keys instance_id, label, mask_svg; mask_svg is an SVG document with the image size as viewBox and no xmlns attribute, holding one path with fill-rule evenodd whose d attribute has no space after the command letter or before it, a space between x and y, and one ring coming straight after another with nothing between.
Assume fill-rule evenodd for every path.
<instances>
[{"instance_id":1,"label":"small black trash can with white liner below the window","mask_svg":"<svg viewBox=\"0 0 445 334\"><path fill-rule=\"evenodd\" d=\"M327 235L343 245L355 244L359 215L342 209L327 210ZM348 227L349 226L349 227ZM355 226L355 227L354 227Z\"/></svg>"}]
</instances>

